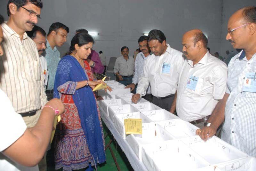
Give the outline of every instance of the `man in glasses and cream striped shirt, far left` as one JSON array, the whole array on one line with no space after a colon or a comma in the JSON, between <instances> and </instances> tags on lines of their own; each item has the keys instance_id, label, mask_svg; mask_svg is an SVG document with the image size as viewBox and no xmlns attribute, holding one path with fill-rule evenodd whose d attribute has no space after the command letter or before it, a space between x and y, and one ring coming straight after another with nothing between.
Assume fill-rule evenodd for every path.
<instances>
[{"instance_id":1,"label":"man in glasses and cream striped shirt, far left","mask_svg":"<svg viewBox=\"0 0 256 171\"><path fill-rule=\"evenodd\" d=\"M1 25L0 89L29 128L35 126L41 106L47 102L36 44L25 33L37 23L43 4L40 0L9 0L7 7L9 20Z\"/></svg>"}]
</instances>

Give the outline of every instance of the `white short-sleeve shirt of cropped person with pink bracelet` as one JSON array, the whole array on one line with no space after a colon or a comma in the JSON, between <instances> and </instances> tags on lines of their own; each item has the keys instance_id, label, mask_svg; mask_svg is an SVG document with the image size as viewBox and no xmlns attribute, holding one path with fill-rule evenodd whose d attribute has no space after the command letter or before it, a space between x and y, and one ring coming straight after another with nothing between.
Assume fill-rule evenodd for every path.
<instances>
[{"instance_id":1,"label":"white short-sleeve shirt of cropped person with pink bracelet","mask_svg":"<svg viewBox=\"0 0 256 171\"><path fill-rule=\"evenodd\" d=\"M0 170L16 171L16 170L38 170L36 167L24 167L11 159L7 158L2 151L12 145L20 138L27 129L27 126L21 115L14 111L10 99L3 90L0 89Z\"/></svg>"}]
</instances>

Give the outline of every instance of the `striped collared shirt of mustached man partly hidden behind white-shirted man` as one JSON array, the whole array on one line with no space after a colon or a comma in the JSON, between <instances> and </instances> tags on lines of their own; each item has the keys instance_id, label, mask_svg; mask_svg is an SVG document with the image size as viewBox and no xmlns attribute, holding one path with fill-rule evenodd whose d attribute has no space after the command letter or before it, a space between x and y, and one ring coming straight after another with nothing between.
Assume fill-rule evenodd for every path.
<instances>
[{"instance_id":1,"label":"striped collared shirt of mustached man partly hidden behind white-shirted man","mask_svg":"<svg viewBox=\"0 0 256 171\"><path fill-rule=\"evenodd\" d=\"M149 56L150 54L147 57ZM141 74L143 74L143 67L147 57L145 57L145 55L142 52L138 53L136 56L135 71L134 71L134 76L132 78L132 83L134 83L135 85L138 84ZM150 85L148 86L147 93L150 94Z\"/></svg>"}]
</instances>

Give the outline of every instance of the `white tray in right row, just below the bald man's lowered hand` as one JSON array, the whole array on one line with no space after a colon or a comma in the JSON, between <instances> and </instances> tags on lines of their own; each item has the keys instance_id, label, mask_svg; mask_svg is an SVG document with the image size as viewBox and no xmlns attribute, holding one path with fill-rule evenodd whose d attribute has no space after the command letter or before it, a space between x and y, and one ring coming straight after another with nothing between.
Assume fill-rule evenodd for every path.
<instances>
[{"instance_id":1,"label":"white tray in right row, just below the bald man's lowered hand","mask_svg":"<svg viewBox=\"0 0 256 171\"><path fill-rule=\"evenodd\" d=\"M135 106L135 105L133 105L133 106ZM171 120L171 119L179 119L178 116L176 116L176 115L174 115L174 114L172 114L172 113L170 113L167 110L162 109L162 108L160 108L160 110L141 111L141 113L146 115L149 119L151 119L154 122L164 121L164 120Z\"/></svg>"}]
</instances>

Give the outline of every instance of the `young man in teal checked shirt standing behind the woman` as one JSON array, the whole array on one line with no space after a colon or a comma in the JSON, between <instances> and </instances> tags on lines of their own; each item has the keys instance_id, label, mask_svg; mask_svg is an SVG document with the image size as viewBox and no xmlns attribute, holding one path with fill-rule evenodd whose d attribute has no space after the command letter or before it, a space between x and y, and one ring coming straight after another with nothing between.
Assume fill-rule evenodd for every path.
<instances>
[{"instance_id":1,"label":"young man in teal checked shirt standing behind the woman","mask_svg":"<svg viewBox=\"0 0 256 171\"><path fill-rule=\"evenodd\" d=\"M69 28L60 22L52 23L46 38L46 49L44 57L47 61L47 69L49 71L48 82L46 86L47 100L53 97L53 86L57 66L60 62L60 52L57 47L61 47L67 41Z\"/></svg>"}]
</instances>

